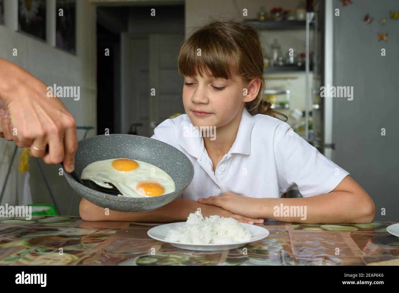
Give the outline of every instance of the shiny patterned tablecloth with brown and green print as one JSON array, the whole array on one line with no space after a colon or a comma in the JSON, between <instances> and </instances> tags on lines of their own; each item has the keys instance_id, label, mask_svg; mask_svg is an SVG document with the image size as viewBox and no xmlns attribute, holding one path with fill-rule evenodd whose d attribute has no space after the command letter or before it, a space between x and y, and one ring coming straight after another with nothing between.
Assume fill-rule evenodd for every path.
<instances>
[{"instance_id":1,"label":"shiny patterned tablecloth with brown and green print","mask_svg":"<svg viewBox=\"0 0 399 293\"><path fill-rule=\"evenodd\" d=\"M296 224L267 220L270 235L242 248L198 252L147 236L152 226L71 216L0 218L0 265L399 265L392 222Z\"/></svg>"}]
</instances>

